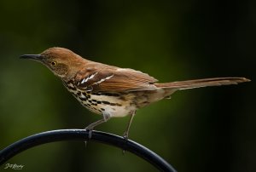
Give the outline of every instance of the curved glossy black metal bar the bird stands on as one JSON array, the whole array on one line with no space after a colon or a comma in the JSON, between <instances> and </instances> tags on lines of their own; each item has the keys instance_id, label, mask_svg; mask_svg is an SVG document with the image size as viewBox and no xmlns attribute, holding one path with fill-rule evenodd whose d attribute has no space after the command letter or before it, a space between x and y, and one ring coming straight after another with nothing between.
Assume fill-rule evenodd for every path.
<instances>
[{"instance_id":1,"label":"curved glossy black metal bar the bird stands on","mask_svg":"<svg viewBox=\"0 0 256 172\"><path fill-rule=\"evenodd\" d=\"M59 129L46 131L37 135L31 135L0 151L0 165L8 161L9 158L14 157L16 154L33 146L62 140L89 140L88 136L89 132L84 129ZM148 163L153 164L154 167L161 171L176 171L172 168L171 164L167 163L163 158L160 158L159 155L135 141L125 140L123 137L118 135L112 135L100 131L92 131L90 140L111 146L117 146L125 151L132 152L138 157L148 161Z\"/></svg>"}]
</instances>

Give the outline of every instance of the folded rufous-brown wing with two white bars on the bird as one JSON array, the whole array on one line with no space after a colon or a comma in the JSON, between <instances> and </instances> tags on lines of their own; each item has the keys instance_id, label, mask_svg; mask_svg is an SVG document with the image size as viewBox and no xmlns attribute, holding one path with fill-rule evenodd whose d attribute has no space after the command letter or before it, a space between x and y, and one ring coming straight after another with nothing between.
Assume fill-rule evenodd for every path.
<instances>
[{"instance_id":1,"label":"folded rufous-brown wing with two white bars on the bird","mask_svg":"<svg viewBox=\"0 0 256 172\"><path fill-rule=\"evenodd\" d=\"M89 68L79 72L76 84L79 89L92 92L127 92L138 90L154 90L152 84L157 82L154 77L133 69L103 66Z\"/></svg>"}]
</instances>

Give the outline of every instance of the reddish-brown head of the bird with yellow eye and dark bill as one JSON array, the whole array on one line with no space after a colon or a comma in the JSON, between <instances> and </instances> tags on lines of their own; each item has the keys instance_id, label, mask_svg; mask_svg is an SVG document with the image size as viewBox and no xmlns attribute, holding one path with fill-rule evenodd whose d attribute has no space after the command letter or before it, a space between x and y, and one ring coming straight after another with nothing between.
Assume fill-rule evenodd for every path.
<instances>
[{"instance_id":1,"label":"reddish-brown head of the bird with yellow eye and dark bill","mask_svg":"<svg viewBox=\"0 0 256 172\"><path fill-rule=\"evenodd\" d=\"M20 58L41 62L62 79L73 77L79 72L79 67L86 62L86 60L73 53L73 51L58 47L46 49L41 54L24 54Z\"/></svg>"}]
</instances>

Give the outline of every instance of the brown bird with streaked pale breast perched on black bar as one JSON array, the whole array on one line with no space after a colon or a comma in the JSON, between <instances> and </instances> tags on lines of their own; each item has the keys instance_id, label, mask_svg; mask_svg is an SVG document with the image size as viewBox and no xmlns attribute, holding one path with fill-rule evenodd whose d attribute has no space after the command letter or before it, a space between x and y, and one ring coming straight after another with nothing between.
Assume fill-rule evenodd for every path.
<instances>
[{"instance_id":1,"label":"brown bird with streaked pale breast perched on black bar","mask_svg":"<svg viewBox=\"0 0 256 172\"><path fill-rule=\"evenodd\" d=\"M41 54L23 54L21 59L36 60L47 66L79 102L90 112L102 115L85 129L92 130L110 118L130 115L124 138L128 139L131 122L138 109L156 101L169 99L183 89L230 85L249 82L246 77L212 77L159 83L147 73L131 68L109 66L86 60L73 51L60 47L44 50Z\"/></svg>"}]
</instances>

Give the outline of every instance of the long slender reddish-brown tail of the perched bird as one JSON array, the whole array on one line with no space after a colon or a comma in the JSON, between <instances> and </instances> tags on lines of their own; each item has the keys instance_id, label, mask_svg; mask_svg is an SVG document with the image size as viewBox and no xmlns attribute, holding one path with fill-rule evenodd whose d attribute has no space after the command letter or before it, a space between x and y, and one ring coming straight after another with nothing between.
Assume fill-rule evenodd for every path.
<instances>
[{"instance_id":1,"label":"long slender reddish-brown tail of the perched bird","mask_svg":"<svg viewBox=\"0 0 256 172\"><path fill-rule=\"evenodd\" d=\"M249 81L250 80L245 77L213 77L205 79L177 81L171 83L154 83L154 85L157 88L165 89L167 96L172 95L172 93L174 93L175 91L182 89L195 89L208 86L230 85Z\"/></svg>"}]
</instances>

